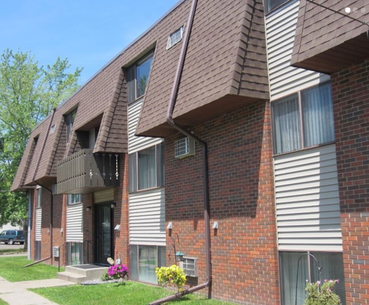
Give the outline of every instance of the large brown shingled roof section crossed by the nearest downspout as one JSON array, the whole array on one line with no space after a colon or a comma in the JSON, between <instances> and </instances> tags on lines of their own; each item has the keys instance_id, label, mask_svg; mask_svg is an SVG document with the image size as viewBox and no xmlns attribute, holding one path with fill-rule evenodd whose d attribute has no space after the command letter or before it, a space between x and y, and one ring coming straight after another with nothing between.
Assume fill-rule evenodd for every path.
<instances>
[{"instance_id":1,"label":"large brown shingled roof section crossed by the nearest downspout","mask_svg":"<svg viewBox=\"0 0 369 305\"><path fill-rule=\"evenodd\" d=\"M165 137L165 113L181 43L166 50L168 35L187 20L185 1L163 25L136 134ZM171 24L170 21L180 20ZM269 99L264 12L261 0L199 0L174 118L193 125Z\"/></svg>"}]
</instances>

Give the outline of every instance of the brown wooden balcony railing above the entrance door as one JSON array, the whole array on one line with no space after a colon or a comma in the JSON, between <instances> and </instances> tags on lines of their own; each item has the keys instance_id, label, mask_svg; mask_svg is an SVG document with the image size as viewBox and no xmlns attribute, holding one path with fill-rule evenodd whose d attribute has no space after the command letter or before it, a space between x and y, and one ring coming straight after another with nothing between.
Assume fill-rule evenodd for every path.
<instances>
[{"instance_id":1,"label":"brown wooden balcony railing above the entrance door","mask_svg":"<svg viewBox=\"0 0 369 305\"><path fill-rule=\"evenodd\" d=\"M119 155L82 149L58 162L58 194L88 194L119 185Z\"/></svg>"}]
</instances>

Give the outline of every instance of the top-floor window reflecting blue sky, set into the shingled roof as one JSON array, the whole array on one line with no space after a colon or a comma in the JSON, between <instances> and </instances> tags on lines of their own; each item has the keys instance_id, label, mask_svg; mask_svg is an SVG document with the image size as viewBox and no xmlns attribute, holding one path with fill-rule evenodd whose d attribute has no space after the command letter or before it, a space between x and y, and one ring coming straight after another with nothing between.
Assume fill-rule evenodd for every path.
<instances>
[{"instance_id":1,"label":"top-floor window reflecting blue sky, set into the shingled roof","mask_svg":"<svg viewBox=\"0 0 369 305\"><path fill-rule=\"evenodd\" d=\"M126 71L128 102L135 101L145 94L146 84L149 80L151 63L154 52L130 66Z\"/></svg>"}]
</instances>

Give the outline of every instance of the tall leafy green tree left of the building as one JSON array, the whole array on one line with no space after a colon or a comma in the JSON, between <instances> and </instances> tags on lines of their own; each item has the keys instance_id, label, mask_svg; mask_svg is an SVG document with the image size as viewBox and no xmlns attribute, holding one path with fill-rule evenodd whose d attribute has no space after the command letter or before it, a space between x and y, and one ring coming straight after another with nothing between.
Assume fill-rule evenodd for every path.
<instances>
[{"instance_id":1,"label":"tall leafy green tree left of the building","mask_svg":"<svg viewBox=\"0 0 369 305\"><path fill-rule=\"evenodd\" d=\"M33 128L79 86L82 69L69 73L69 68L60 58L39 66L30 52L7 49L0 55L0 226L23 225L25 235L28 196L9 190Z\"/></svg>"}]
</instances>

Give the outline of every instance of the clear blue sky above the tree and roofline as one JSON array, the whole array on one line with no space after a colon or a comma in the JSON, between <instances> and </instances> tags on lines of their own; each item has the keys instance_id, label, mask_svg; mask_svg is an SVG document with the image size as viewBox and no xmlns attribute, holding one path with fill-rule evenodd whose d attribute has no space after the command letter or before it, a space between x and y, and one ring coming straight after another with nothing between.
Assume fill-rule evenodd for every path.
<instances>
[{"instance_id":1,"label":"clear blue sky above the tree and roofline","mask_svg":"<svg viewBox=\"0 0 369 305\"><path fill-rule=\"evenodd\" d=\"M31 51L42 65L68 58L84 83L177 2L1 0L0 52Z\"/></svg>"}]
</instances>

